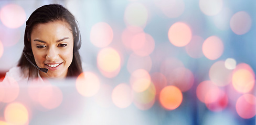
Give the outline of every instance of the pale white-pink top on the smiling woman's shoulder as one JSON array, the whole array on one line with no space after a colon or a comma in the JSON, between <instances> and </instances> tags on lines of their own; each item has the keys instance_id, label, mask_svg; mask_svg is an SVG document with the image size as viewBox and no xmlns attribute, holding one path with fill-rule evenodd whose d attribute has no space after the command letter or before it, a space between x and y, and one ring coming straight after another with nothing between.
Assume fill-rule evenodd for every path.
<instances>
[{"instance_id":1,"label":"pale white-pink top on the smiling woman's shoulder","mask_svg":"<svg viewBox=\"0 0 256 125\"><path fill-rule=\"evenodd\" d=\"M39 72L38 72L38 78L36 78L36 79L28 79L28 76L25 77L24 73L25 72L22 72L22 69L20 67L18 67L18 66L13 67L8 72L6 72L5 78L1 83L9 84L9 85L12 85L15 83L28 84L31 82L44 83Z\"/></svg>"}]
</instances>

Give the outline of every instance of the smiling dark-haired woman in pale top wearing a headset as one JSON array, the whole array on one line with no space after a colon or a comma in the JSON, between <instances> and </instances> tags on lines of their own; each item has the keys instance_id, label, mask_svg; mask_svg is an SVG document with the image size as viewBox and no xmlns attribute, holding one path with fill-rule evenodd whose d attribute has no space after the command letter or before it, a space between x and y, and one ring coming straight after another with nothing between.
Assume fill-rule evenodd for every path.
<instances>
[{"instance_id":1,"label":"smiling dark-haired woman in pale top wearing a headset","mask_svg":"<svg viewBox=\"0 0 256 125\"><path fill-rule=\"evenodd\" d=\"M30 15L24 45L17 67L10 69L5 79L17 82L30 78L63 79L77 77L82 72L78 23L61 5L45 5Z\"/></svg>"}]
</instances>

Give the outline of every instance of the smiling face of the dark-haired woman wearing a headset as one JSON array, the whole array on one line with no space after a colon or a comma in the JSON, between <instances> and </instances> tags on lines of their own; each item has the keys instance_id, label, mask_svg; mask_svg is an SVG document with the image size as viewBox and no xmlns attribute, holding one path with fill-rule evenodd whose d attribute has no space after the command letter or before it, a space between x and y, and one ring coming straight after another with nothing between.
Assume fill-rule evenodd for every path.
<instances>
[{"instance_id":1,"label":"smiling face of the dark-haired woman wearing a headset","mask_svg":"<svg viewBox=\"0 0 256 125\"><path fill-rule=\"evenodd\" d=\"M65 78L73 58L73 35L68 23L54 21L37 24L31 32L31 48L41 77Z\"/></svg>"}]
</instances>

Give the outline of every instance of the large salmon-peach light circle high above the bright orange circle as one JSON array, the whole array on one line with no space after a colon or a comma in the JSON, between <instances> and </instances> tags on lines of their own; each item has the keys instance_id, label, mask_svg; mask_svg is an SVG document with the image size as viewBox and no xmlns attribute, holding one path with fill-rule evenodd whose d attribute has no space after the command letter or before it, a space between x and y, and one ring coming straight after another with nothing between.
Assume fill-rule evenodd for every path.
<instances>
[{"instance_id":1,"label":"large salmon-peach light circle high above the bright orange circle","mask_svg":"<svg viewBox=\"0 0 256 125\"><path fill-rule=\"evenodd\" d=\"M183 22L174 23L168 31L170 43L175 46L182 47L187 45L192 37L192 33L187 24Z\"/></svg>"}]
</instances>

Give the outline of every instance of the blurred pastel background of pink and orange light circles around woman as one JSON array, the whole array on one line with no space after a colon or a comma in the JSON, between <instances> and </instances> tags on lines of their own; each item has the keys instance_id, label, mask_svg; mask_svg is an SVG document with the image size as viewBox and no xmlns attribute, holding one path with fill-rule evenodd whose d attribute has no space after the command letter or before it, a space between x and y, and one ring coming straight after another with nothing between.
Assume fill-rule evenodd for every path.
<instances>
[{"instance_id":1,"label":"blurred pastel background of pink and orange light circles around woman","mask_svg":"<svg viewBox=\"0 0 256 125\"><path fill-rule=\"evenodd\" d=\"M2 79L22 55L30 14L53 3L79 22L84 72L70 89L52 84L61 100L39 101L43 110L0 98L0 123L46 122L51 111L58 120L71 91L92 107L75 112L92 113L82 123L255 124L256 1L1 0Z\"/></svg>"}]
</instances>

